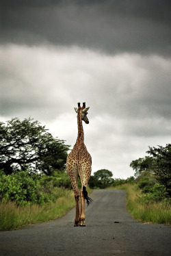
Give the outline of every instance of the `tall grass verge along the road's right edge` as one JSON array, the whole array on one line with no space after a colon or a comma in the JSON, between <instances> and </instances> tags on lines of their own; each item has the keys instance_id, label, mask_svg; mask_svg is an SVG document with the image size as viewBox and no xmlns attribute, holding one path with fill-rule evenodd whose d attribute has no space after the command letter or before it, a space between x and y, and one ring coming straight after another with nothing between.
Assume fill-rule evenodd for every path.
<instances>
[{"instance_id":1,"label":"tall grass verge along the road's right edge","mask_svg":"<svg viewBox=\"0 0 171 256\"><path fill-rule=\"evenodd\" d=\"M171 205L169 200L159 203L142 201L142 192L135 184L123 184L109 189L127 190L127 209L140 222L171 225Z\"/></svg>"}]
</instances>

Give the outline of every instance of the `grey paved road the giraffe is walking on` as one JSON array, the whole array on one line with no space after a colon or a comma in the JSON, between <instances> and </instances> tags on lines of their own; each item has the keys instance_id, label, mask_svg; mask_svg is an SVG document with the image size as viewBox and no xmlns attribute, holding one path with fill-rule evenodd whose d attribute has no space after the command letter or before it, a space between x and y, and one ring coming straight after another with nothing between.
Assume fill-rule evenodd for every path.
<instances>
[{"instance_id":1,"label":"grey paved road the giraffe is walking on","mask_svg":"<svg viewBox=\"0 0 171 256\"><path fill-rule=\"evenodd\" d=\"M0 256L170 256L170 226L136 222L125 196L124 190L94 190L86 227L73 227L72 209L52 222L1 231Z\"/></svg>"}]
</instances>

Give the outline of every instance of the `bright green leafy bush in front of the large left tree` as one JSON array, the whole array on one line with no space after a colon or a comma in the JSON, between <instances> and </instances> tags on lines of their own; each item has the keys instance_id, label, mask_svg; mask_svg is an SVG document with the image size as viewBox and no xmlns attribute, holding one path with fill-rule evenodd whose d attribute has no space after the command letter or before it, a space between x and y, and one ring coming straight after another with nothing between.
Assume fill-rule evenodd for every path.
<instances>
[{"instance_id":1,"label":"bright green leafy bush in front of the large left tree","mask_svg":"<svg viewBox=\"0 0 171 256\"><path fill-rule=\"evenodd\" d=\"M21 171L12 175L0 172L0 201L14 201L17 205L25 206L33 203L40 205L51 203L62 193L53 184L42 185L38 175L29 175Z\"/></svg>"}]
</instances>

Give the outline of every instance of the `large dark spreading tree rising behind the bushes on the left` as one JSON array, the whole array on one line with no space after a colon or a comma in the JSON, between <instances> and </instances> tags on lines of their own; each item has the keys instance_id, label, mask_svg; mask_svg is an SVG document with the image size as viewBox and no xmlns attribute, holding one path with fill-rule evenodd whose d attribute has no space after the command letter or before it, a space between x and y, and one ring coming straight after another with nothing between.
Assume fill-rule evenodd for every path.
<instances>
[{"instance_id":1,"label":"large dark spreading tree rising behind the bushes on the left","mask_svg":"<svg viewBox=\"0 0 171 256\"><path fill-rule=\"evenodd\" d=\"M44 172L64 170L69 146L53 138L45 126L33 119L13 118L0 122L0 169L6 175L19 170Z\"/></svg>"}]
</instances>

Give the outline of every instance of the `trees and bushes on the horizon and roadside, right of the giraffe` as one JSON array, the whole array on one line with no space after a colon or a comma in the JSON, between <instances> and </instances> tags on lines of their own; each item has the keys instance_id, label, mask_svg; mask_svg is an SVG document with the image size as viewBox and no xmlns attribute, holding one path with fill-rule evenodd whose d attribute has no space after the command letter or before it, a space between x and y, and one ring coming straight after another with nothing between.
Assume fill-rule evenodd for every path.
<instances>
[{"instance_id":1,"label":"trees and bushes on the horizon and roadside, right of the giraffe","mask_svg":"<svg viewBox=\"0 0 171 256\"><path fill-rule=\"evenodd\" d=\"M150 147L148 155L135 159L130 166L135 177L113 179L109 170L98 170L90 177L90 188L110 188L126 183L140 189L144 203L169 201L171 195L171 144Z\"/></svg>"}]
</instances>

